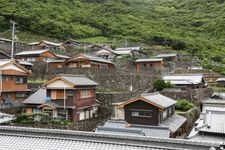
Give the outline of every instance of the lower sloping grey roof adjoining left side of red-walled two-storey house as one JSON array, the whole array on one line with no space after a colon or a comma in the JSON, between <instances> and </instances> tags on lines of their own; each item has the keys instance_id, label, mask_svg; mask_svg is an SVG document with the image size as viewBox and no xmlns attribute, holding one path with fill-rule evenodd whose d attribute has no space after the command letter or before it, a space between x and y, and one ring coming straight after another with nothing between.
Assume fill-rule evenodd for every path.
<instances>
[{"instance_id":1,"label":"lower sloping grey roof adjoining left side of red-walled two-storey house","mask_svg":"<svg viewBox=\"0 0 225 150\"><path fill-rule=\"evenodd\" d=\"M44 104L46 101L46 89L40 88L23 101L24 104Z\"/></svg>"}]
</instances>

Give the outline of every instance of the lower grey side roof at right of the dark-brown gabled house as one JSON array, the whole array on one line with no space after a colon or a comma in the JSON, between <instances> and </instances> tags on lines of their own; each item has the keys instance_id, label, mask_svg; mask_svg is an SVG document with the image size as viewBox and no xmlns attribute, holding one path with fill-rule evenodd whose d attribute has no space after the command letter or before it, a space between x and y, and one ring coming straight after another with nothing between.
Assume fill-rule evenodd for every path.
<instances>
[{"instance_id":1,"label":"lower grey side roof at right of the dark-brown gabled house","mask_svg":"<svg viewBox=\"0 0 225 150\"><path fill-rule=\"evenodd\" d=\"M178 114L174 114L164 120L160 126L161 127L169 127L171 132L176 132L186 121L187 119L183 116L180 116Z\"/></svg>"}]
</instances>

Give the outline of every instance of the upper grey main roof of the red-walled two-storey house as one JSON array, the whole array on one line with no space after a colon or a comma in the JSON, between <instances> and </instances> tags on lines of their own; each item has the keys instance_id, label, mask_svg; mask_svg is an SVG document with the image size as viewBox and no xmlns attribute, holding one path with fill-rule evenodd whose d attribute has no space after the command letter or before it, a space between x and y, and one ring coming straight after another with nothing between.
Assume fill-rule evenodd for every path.
<instances>
[{"instance_id":1,"label":"upper grey main roof of the red-walled two-storey house","mask_svg":"<svg viewBox=\"0 0 225 150\"><path fill-rule=\"evenodd\" d=\"M98 85L98 83L82 75L60 74L60 77L78 86Z\"/></svg>"}]
</instances>

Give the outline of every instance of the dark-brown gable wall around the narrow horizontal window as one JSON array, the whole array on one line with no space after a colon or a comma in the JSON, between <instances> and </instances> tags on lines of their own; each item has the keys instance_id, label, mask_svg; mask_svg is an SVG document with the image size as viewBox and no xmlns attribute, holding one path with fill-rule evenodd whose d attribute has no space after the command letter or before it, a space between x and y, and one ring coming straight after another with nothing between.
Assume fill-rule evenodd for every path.
<instances>
[{"instance_id":1,"label":"dark-brown gable wall around the narrow horizontal window","mask_svg":"<svg viewBox=\"0 0 225 150\"><path fill-rule=\"evenodd\" d=\"M134 117L131 116L133 110L151 110L152 117ZM157 107L150 105L142 100L135 101L133 103L124 106L125 120L131 124L143 124L143 125L158 125L160 112Z\"/></svg>"}]
</instances>

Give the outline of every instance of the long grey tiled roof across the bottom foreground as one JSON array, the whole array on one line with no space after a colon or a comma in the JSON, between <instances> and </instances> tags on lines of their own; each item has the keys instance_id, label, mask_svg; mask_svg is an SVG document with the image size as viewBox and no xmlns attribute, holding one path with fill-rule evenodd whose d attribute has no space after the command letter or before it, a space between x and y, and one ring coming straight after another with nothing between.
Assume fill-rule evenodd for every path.
<instances>
[{"instance_id":1,"label":"long grey tiled roof across the bottom foreground","mask_svg":"<svg viewBox=\"0 0 225 150\"><path fill-rule=\"evenodd\" d=\"M0 126L0 149L219 150L220 143Z\"/></svg>"}]
</instances>

